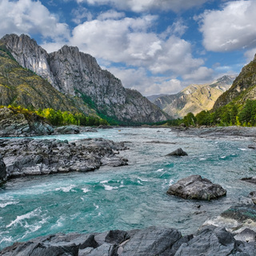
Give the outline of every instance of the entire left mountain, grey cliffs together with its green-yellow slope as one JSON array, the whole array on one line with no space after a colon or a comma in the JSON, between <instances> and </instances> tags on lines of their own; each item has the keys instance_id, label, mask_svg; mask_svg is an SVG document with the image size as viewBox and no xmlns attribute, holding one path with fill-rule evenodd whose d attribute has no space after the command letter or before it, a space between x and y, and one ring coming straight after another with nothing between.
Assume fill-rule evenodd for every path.
<instances>
[{"instance_id":1,"label":"entire left mountain, grey cliffs together with its green-yellow slope","mask_svg":"<svg viewBox=\"0 0 256 256\"><path fill-rule=\"evenodd\" d=\"M77 47L63 46L48 54L25 34L0 40L0 94L2 105L52 107L126 124L170 118Z\"/></svg>"}]
</instances>

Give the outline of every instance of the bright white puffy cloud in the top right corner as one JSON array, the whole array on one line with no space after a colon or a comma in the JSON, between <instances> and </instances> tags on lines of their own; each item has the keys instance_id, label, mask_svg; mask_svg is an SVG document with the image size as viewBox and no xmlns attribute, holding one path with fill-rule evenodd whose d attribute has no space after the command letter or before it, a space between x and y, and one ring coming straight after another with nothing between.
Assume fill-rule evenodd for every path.
<instances>
[{"instance_id":1,"label":"bright white puffy cloud in the top right corner","mask_svg":"<svg viewBox=\"0 0 256 256\"><path fill-rule=\"evenodd\" d=\"M206 50L225 52L256 47L256 1L227 2L199 18Z\"/></svg>"}]
</instances>

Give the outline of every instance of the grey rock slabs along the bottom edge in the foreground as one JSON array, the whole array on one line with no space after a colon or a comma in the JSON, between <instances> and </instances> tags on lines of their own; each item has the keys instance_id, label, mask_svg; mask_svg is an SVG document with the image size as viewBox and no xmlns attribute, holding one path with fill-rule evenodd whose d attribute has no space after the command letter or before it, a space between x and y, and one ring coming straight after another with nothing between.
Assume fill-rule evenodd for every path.
<instances>
[{"instance_id":1,"label":"grey rock slabs along the bottom edge in the foreground","mask_svg":"<svg viewBox=\"0 0 256 256\"><path fill-rule=\"evenodd\" d=\"M249 230L248 232L249 233ZM238 238L243 238L242 234ZM15 242L2 256L228 256L255 255L255 239L240 241L225 228L206 226L197 234L182 236L171 228L110 230L93 234L51 234L29 242Z\"/></svg>"}]
</instances>

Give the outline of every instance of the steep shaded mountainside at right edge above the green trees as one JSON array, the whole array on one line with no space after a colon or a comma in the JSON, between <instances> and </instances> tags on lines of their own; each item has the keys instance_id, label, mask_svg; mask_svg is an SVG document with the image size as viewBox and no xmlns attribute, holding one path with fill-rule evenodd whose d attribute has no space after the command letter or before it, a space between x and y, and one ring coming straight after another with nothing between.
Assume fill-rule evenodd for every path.
<instances>
[{"instance_id":1,"label":"steep shaded mountainside at right edge above the green trees","mask_svg":"<svg viewBox=\"0 0 256 256\"><path fill-rule=\"evenodd\" d=\"M230 90L227 90L218 98L213 110L226 106L230 102L237 102L242 105L247 99L256 99L256 54L254 60L242 68Z\"/></svg>"}]
</instances>

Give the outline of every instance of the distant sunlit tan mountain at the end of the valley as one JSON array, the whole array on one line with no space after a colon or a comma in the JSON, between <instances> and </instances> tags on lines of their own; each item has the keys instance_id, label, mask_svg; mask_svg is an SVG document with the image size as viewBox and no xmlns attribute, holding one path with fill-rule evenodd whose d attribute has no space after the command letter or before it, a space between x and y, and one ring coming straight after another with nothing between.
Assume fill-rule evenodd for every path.
<instances>
[{"instance_id":1,"label":"distant sunlit tan mountain at the end of the valley","mask_svg":"<svg viewBox=\"0 0 256 256\"><path fill-rule=\"evenodd\" d=\"M210 84L193 84L178 94L153 97L153 102L173 118L182 118L189 112L198 114L202 110L211 110L218 97L230 88L234 78L225 75Z\"/></svg>"}]
</instances>

